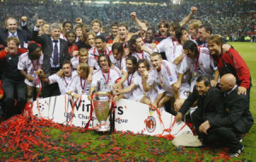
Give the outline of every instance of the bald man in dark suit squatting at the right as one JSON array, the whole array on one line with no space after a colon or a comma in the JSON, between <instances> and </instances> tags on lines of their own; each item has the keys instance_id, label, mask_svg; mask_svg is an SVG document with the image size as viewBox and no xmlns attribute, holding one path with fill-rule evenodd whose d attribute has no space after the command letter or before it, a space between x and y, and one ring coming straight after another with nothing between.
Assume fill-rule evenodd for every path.
<instances>
[{"instance_id":1,"label":"bald man in dark suit squatting at the right","mask_svg":"<svg viewBox=\"0 0 256 162\"><path fill-rule=\"evenodd\" d=\"M209 128L215 130L215 137L230 148L230 157L238 157L244 147L237 136L247 133L253 125L247 95L237 94L236 77L230 73L220 78L219 88L224 92L225 116L214 121L207 120L201 124L199 130L205 134Z\"/></svg>"}]
</instances>

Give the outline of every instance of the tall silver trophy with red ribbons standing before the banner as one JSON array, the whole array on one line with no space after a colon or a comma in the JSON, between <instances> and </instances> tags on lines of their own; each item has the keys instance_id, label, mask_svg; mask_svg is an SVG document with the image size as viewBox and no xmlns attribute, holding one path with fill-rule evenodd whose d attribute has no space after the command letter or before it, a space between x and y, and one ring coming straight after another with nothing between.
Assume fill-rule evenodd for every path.
<instances>
[{"instance_id":1,"label":"tall silver trophy with red ribbons standing before the banner","mask_svg":"<svg viewBox=\"0 0 256 162\"><path fill-rule=\"evenodd\" d=\"M93 94L92 105L95 110L96 119L100 123L97 131L108 131L107 119L112 106L113 97L110 92L96 92Z\"/></svg>"}]
</instances>

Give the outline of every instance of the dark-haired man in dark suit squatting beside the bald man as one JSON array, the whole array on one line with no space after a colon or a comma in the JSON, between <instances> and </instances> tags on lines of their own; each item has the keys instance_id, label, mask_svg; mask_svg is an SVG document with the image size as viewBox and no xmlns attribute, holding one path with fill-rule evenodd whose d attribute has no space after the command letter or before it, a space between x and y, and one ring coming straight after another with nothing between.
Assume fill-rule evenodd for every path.
<instances>
[{"instance_id":1,"label":"dark-haired man in dark suit squatting beside the bald man","mask_svg":"<svg viewBox=\"0 0 256 162\"><path fill-rule=\"evenodd\" d=\"M177 113L177 121L182 119L183 114L189 110L189 107L195 101L197 101L197 108L191 115L192 123L195 126L199 138L204 142L207 136L199 131L199 126L209 119L212 121L218 120L224 114L223 94L218 88L211 87L209 78L203 76L197 78L192 94L184 101L183 106Z\"/></svg>"}]
</instances>

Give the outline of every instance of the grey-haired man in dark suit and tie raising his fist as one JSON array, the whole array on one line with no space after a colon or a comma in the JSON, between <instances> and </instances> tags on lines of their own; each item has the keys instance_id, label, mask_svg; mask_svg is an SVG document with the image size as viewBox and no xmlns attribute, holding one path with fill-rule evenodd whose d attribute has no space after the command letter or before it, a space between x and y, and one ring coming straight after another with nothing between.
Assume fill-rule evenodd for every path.
<instances>
[{"instance_id":1,"label":"grey-haired man in dark suit and tie raising his fist","mask_svg":"<svg viewBox=\"0 0 256 162\"><path fill-rule=\"evenodd\" d=\"M43 24L44 20L37 21L37 25L32 32L32 39L42 45L44 53L42 69L46 76L49 76L58 72L61 69L62 62L70 60L70 56L67 54L67 41L60 38L61 27L57 23L53 23L49 27L50 34L38 36L39 27ZM44 83L43 88L44 97L61 94L58 84Z\"/></svg>"}]
</instances>

